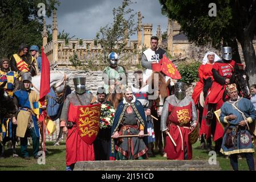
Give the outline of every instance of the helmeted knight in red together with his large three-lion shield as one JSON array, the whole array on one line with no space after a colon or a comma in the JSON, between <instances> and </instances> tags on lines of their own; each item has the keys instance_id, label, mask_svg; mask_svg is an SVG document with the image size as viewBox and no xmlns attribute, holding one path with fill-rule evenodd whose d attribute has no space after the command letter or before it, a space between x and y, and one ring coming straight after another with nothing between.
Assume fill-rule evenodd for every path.
<instances>
[{"instance_id":1,"label":"helmeted knight in red together with his large three-lion shield","mask_svg":"<svg viewBox=\"0 0 256 182\"><path fill-rule=\"evenodd\" d=\"M67 134L66 170L71 171L79 161L95 160L94 140L100 127L100 104L95 104L93 94L86 90L86 78L73 79L75 92L64 101L60 127Z\"/></svg>"}]
</instances>

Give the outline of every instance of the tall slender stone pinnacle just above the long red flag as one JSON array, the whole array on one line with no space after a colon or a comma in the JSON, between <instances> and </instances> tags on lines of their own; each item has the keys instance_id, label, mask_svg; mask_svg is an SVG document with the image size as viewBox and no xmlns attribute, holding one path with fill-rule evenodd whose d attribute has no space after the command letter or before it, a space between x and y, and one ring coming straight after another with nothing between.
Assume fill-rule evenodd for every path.
<instances>
[{"instance_id":1,"label":"tall slender stone pinnacle just above the long red flag","mask_svg":"<svg viewBox=\"0 0 256 182\"><path fill-rule=\"evenodd\" d=\"M53 20L52 20L52 63L58 63L58 25L57 25L57 14L56 10L53 12Z\"/></svg>"}]
</instances>

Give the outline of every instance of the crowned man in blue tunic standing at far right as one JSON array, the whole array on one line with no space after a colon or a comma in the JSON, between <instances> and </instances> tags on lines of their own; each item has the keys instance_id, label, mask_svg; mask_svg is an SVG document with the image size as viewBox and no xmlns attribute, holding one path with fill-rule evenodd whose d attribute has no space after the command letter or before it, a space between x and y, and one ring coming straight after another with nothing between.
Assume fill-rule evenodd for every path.
<instances>
[{"instance_id":1,"label":"crowned man in blue tunic standing at far right","mask_svg":"<svg viewBox=\"0 0 256 182\"><path fill-rule=\"evenodd\" d=\"M244 154L250 171L254 171L254 147L251 139L250 124L255 125L256 110L247 98L238 96L235 84L227 85L230 97L221 107L220 121L225 125L221 152L230 155L234 171L238 171L238 154Z\"/></svg>"}]
</instances>

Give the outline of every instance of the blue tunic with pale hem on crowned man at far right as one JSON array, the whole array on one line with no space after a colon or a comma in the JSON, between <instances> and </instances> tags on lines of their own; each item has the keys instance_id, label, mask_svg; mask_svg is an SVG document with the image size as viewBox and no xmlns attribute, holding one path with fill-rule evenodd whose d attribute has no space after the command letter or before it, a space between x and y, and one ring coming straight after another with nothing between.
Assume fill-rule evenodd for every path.
<instances>
[{"instance_id":1,"label":"blue tunic with pale hem on crowned man at far right","mask_svg":"<svg viewBox=\"0 0 256 182\"><path fill-rule=\"evenodd\" d=\"M247 120L250 121L249 127L253 127L253 125L255 126L256 110L254 109L254 106L250 102L250 100L247 100L247 98L238 98L238 101L235 102L235 106L240 111L242 111L245 114ZM228 121L229 125L227 125L227 120L225 119L225 117L231 114L236 115L237 118ZM235 107L232 106L229 101L225 102L224 105L222 105L220 121L222 124L224 124L225 131L228 131L227 127L229 127L231 131L231 138L233 139L233 146L228 146L226 144L228 134L227 132L224 133L221 146L222 154L230 155L239 154L243 152L254 152L254 147L251 141L251 134L249 130L247 130L247 127L238 126L238 123L243 120L245 119L243 119L242 114L239 113L239 111L235 109Z\"/></svg>"}]
</instances>

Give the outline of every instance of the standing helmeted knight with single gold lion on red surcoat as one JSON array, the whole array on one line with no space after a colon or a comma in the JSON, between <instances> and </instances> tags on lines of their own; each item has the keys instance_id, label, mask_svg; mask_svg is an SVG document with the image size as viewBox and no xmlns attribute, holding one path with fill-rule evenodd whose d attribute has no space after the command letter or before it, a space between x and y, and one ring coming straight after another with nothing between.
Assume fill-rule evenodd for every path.
<instances>
[{"instance_id":1,"label":"standing helmeted knight with single gold lion on red surcoat","mask_svg":"<svg viewBox=\"0 0 256 182\"><path fill-rule=\"evenodd\" d=\"M166 134L164 151L167 159L192 159L192 144L198 138L198 132L192 133L198 131L199 127L196 126L197 110L194 101L186 96L185 84L177 82L174 84L174 94L164 102L161 115L161 131ZM195 128L197 130L193 130Z\"/></svg>"}]
</instances>

